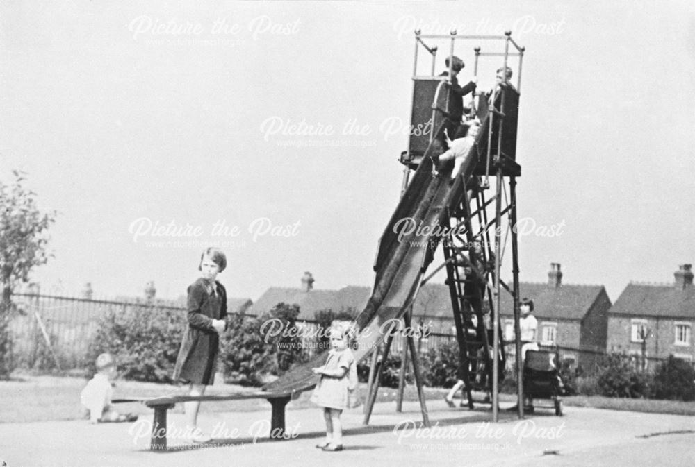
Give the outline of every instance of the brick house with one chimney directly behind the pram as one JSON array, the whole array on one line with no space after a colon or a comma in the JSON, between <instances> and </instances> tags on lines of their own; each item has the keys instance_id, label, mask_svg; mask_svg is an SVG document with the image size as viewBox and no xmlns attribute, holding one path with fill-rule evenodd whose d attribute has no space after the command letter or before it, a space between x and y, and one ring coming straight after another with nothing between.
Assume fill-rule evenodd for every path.
<instances>
[{"instance_id":1,"label":"brick house with one chimney directly behind the pram","mask_svg":"<svg viewBox=\"0 0 695 467\"><path fill-rule=\"evenodd\" d=\"M538 320L537 339L541 348L559 350L560 358L570 359L591 370L605 352L610 298L603 285L562 283L560 264L552 263L548 282L521 282L520 298L534 302ZM514 339L512 297L502 293L502 331L505 341ZM507 346L509 364L514 364L514 346Z\"/></svg>"}]
</instances>

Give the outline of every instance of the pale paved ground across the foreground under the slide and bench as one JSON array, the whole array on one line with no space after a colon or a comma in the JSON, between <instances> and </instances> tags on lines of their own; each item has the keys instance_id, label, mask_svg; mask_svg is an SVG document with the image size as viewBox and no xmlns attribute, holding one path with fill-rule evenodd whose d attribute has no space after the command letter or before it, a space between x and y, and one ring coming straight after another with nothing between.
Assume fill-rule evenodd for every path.
<instances>
[{"instance_id":1,"label":"pale paved ground across the foreground under the slide and bench","mask_svg":"<svg viewBox=\"0 0 695 467\"><path fill-rule=\"evenodd\" d=\"M15 466L685 466L695 459L695 418L566 407L566 415L541 410L516 420L502 412L493 425L485 409L448 409L429 401L431 430L418 429L417 402L402 414L380 403L371 424L361 408L343 416L345 450L321 452L318 409L288 405L287 427L295 439L266 441L270 405L245 412L206 411L201 424L216 430L200 447L177 439L183 415L170 415L169 452L149 452L150 416L135 424L88 425L85 421L0 424L0 458ZM293 405L294 404L294 405ZM125 408L125 407L124 407ZM260 437L256 438L256 435Z\"/></svg>"}]
</instances>

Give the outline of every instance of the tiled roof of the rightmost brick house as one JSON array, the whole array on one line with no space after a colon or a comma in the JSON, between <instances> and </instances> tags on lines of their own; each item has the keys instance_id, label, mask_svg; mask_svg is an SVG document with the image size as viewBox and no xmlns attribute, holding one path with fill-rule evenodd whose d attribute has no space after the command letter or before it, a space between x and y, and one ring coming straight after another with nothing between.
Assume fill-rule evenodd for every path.
<instances>
[{"instance_id":1,"label":"tiled roof of the rightmost brick house","mask_svg":"<svg viewBox=\"0 0 695 467\"><path fill-rule=\"evenodd\" d=\"M630 282L610 309L610 314L695 318L695 288Z\"/></svg>"}]
</instances>

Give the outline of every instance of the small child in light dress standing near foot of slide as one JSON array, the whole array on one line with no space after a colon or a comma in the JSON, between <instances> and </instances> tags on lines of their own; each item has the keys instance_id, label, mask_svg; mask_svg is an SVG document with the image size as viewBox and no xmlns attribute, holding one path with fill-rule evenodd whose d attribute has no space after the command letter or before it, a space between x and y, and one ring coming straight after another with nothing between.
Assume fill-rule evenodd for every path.
<instances>
[{"instance_id":1,"label":"small child in light dress standing near foot of slide","mask_svg":"<svg viewBox=\"0 0 695 467\"><path fill-rule=\"evenodd\" d=\"M349 393L357 388L357 370L354 355L348 343L350 330L333 327L329 337L331 349L324 366L313 368L321 375L311 396L311 402L323 407L326 421L326 439L316 445L325 451L343 450L341 414L348 406Z\"/></svg>"}]
</instances>

